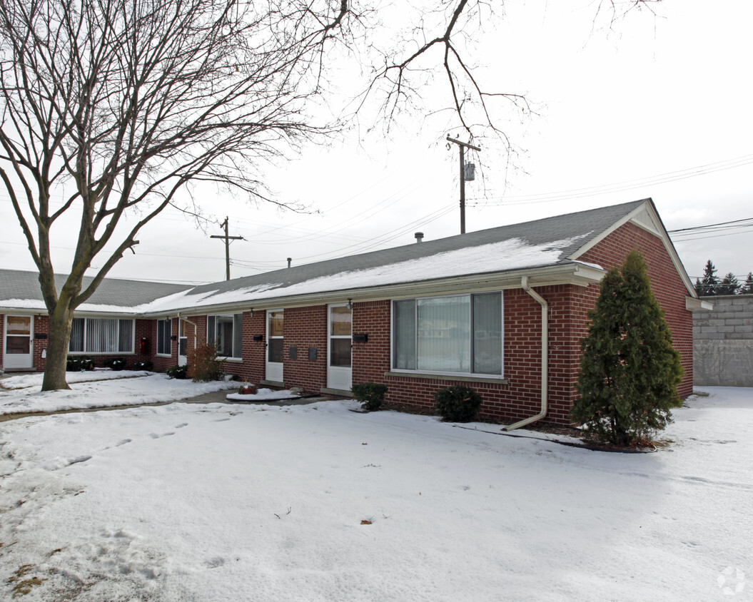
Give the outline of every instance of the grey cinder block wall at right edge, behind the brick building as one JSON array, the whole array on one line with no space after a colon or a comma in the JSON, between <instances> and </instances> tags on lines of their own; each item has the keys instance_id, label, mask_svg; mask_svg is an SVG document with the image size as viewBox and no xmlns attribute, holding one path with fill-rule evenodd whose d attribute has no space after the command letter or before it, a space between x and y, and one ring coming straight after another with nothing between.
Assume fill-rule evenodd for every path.
<instances>
[{"instance_id":1,"label":"grey cinder block wall at right edge, behind the brick building","mask_svg":"<svg viewBox=\"0 0 753 602\"><path fill-rule=\"evenodd\" d=\"M693 316L693 384L753 387L753 295L706 297Z\"/></svg>"}]
</instances>

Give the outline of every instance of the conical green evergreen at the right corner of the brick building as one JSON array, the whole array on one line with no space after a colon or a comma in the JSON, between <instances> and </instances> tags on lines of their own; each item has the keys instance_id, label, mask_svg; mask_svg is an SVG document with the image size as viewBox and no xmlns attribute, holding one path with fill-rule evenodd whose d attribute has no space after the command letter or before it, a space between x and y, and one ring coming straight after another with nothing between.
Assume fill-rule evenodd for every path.
<instances>
[{"instance_id":1,"label":"conical green evergreen at the right corner of the brick building","mask_svg":"<svg viewBox=\"0 0 753 602\"><path fill-rule=\"evenodd\" d=\"M682 366L638 251L605 275L589 318L572 419L605 442L647 442L682 403Z\"/></svg>"}]
</instances>

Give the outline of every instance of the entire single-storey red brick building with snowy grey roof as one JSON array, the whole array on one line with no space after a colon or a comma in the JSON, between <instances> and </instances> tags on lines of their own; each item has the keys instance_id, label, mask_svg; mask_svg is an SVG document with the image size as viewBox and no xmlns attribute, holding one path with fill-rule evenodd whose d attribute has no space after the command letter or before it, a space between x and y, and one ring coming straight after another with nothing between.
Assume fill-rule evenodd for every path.
<instances>
[{"instance_id":1,"label":"entire single-storey red brick building with snowy grey roof","mask_svg":"<svg viewBox=\"0 0 753 602\"><path fill-rule=\"evenodd\" d=\"M568 423L587 312L606 269L633 249L687 397L691 312L703 304L651 199L198 287L106 279L79 308L69 352L164 370L209 340L226 373L261 385L348 395L353 383L384 382L387 400L429 407L438 389L465 384L483 415ZM44 369L35 278L0 271L7 371Z\"/></svg>"}]
</instances>

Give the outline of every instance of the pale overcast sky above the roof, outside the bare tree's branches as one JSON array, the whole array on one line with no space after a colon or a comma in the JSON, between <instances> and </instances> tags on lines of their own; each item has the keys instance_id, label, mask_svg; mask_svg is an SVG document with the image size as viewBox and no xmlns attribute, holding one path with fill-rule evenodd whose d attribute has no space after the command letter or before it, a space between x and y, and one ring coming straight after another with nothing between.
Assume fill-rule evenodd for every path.
<instances>
[{"instance_id":1,"label":"pale overcast sky above the roof, outside the bare tree's branches","mask_svg":"<svg viewBox=\"0 0 753 602\"><path fill-rule=\"evenodd\" d=\"M565 6L566 5L566 6ZM631 14L608 32L590 2L507 2L480 38L475 61L489 89L526 93L538 115L500 114L521 152L506 169L499 147L471 157L483 179L466 188L467 230L613 205L650 196L668 230L753 217L753 4L665 0L657 17ZM229 193L198 199L218 222L230 217L231 276L343 257L459 233L457 147L421 114L389 135L361 123L329 147L266 172L276 199L309 213L248 205ZM0 194L0 267L34 269ZM317 211L317 212L313 212ZM154 220L111 271L160 281L224 279L224 243L176 211ZM706 260L741 280L753 270L753 222L738 230L674 236L691 277ZM53 239L67 272L72 230ZM94 263L96 267L98 264Z\"/></svg>"}]
</instances>

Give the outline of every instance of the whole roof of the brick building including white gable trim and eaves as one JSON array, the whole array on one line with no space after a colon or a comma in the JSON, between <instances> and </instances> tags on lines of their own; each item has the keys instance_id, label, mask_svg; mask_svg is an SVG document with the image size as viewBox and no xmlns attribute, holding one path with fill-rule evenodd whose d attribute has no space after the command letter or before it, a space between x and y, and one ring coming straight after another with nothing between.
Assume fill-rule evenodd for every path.
<instances>
[{"instance_id":1,"label":"whole roof of the brick building including white gable trim and eaves","mask_svg":"<svg viewBox=\"0 0 753 602\"><path fill-rule=\"evenodd\" d=\"M335 303L452 290L453 286L513 286L520 282L521 271L531 277L531 284L578 278L586 284L598 281L603 270L578 257L627 220L663 237L693 294L653 202L643 199L197 287L108 278L90 302L81 306L81 312L169 315ZM29 281L36 278L32 272L0 270L0 306L14 307L9 304L23 299L41 301L38 283L35 288L16 286L9 294L8 274L17 283L23 274Z\"/></svg>"}]
</instances>

